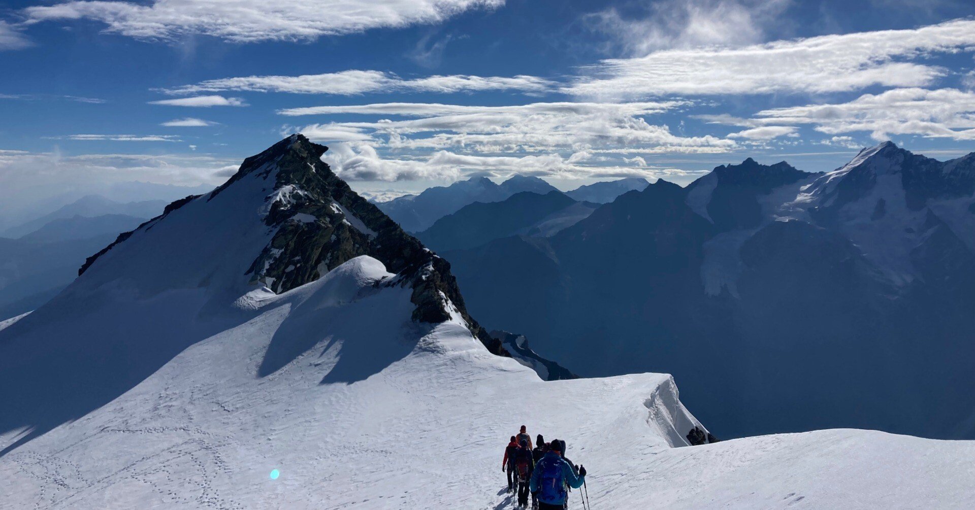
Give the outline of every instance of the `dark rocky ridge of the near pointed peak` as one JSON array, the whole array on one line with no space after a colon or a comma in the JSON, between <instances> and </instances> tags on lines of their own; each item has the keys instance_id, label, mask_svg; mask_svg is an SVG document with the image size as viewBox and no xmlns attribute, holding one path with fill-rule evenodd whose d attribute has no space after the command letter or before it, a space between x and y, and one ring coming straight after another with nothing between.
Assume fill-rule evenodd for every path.
<instances>
[{"instance_id":1,"label":"dark rocky ridge of the near pointed peak","mask_svg":"<svg viewBox=\"0 0 975 510\"><path fill-rule=\"evenodd\" d=\"M248 266L245 274L250 277L249 284L264 285L281 294L317 280L356 256L370 255L398 275L397 283L412 288L415 321L441 323L450 318L451 308L455 309L488 349L505 353L467 313L448 262L425 249L335 176L321 160L327 150L302 135L282 139L244 160L238 172L214 191L178 200L167 206L163 215L120 235L115 243L90 257L79 274L133 234L149 231L188 204L237 208L236 204L221 202L236 202L241 192L247 192L252 199L263 197L256 211L268 232L273 232ZM253 208L255 204L249 205Z\"/></svg>"}]
</instances>

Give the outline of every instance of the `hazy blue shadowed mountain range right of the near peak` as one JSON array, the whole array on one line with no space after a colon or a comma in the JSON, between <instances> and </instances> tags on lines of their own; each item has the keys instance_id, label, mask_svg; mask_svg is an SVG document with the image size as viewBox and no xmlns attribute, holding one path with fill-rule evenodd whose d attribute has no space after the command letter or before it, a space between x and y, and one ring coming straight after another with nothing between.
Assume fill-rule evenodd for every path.
<instances>
[{"instance_id":1,"label":"hazy blue shadowed mountain range right of the near peak","mask_svg":"<svg viewBox=\"0 0 975 510\"><path fill-rule=\"evenodd\" d=\"M674 373L723 434L975 438L973 193L975 154L887 142L828 174L659 180L552 237L441 255L486 327L584 376Z\"/></svg>"}]
</instances>

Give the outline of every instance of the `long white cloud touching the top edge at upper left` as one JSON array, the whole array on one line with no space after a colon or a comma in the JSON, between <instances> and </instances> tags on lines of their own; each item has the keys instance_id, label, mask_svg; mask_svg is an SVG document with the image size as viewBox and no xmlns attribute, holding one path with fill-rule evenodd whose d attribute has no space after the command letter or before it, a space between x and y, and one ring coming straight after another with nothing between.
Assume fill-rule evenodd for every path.
<instances>
[{"instance_id":1,"label":"long white cloud touching the top edge at upper left","mask_svg":"<svg viewBox=\"0 0 975 510\"><path fill-rule=\"evenodd\" d=\"M370 28L438 23L504 0L154 0L69 1L24 10L29 22L98 20L107 32L172 40L211 35L233 42L311 41Z\"/></svg>"}]
</instances>

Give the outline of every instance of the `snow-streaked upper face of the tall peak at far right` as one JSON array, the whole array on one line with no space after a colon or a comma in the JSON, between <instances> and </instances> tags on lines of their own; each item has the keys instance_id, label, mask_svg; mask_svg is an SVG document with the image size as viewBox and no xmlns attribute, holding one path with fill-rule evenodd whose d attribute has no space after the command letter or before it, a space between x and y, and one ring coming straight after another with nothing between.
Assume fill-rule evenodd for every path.
<instances>
[{"instance_id":1,"label":"snow-streaked upper face of the tall peak at far right","mask_svg":"<svg viewBox=\"0 0 975 510\"><path fill-rule=\"evenodd\" d=\"M925 272L912 254L924 244L932 214L975 249L975 215L968 211L975 204L975 157L940 162L887 141L780 204L782 216L839 230L889 282L904 287Z\"/></svg>"}]
</instances>

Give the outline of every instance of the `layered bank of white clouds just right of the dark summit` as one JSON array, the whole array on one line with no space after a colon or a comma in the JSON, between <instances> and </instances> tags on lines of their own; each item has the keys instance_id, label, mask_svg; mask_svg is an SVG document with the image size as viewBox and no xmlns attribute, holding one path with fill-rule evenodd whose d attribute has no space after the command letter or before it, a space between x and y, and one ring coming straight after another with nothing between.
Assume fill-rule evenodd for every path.
<instances>
[{"instance_id":1,"label":"layered bank of white clouds just right of the dark summit","mask_svg":"<svg viewBox=\"0 0 975 510\"><path fill-rule=\"evenodd\" d=\"M329 142L326 160L339 176L350 180L452 180L516 173L558 178L673 177L680 171L629 156L727 152L737 145L720 137L675 135L667 126L645 119L689 104L683 99L509 106L390 102L279 113L370 116L373 120L311 124L295 130Z\"/></svg>"}]
</instances>

